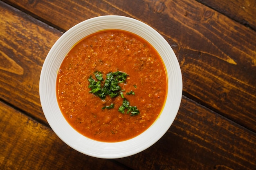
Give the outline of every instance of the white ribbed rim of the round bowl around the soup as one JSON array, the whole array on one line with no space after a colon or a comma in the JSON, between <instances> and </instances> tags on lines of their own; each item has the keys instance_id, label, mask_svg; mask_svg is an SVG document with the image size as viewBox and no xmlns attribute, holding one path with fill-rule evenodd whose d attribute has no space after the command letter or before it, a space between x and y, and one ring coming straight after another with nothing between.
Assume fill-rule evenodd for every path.
<instances>
[{"instance_id":1,"label":"white ribbed rim of the round bowl around the soup","mask_svg":"<svg viewBox=\"0 0 256 170\"><path fill-rule=\"evenodd\" d=\"M74 44L105 29L120 29L135 33L155 47L166 66L168 94L162 113L145 132L121 142L95 141L81 135L67 123L58 106L56 79L61 63ZM40 101L52 130L67 145L92 157L115 159L137 154L155 144L170 128L180 108L182 74L171 46L153 28L138 20L107 15L85 20L65 32L52 46L42 67L39 84Z\"/></svg>"}]
</instances>

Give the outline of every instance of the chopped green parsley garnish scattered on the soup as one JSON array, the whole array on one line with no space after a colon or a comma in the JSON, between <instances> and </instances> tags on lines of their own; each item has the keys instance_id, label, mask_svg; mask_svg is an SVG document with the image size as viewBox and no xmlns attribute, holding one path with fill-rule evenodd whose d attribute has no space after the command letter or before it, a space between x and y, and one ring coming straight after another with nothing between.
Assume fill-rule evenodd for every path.
<instances>
[{"instance_id":1,"label":"chopped green parsley garnish scattered on the soup","mask_svg":"<svg viewBox=\"0 0 256 170\"><path fill-rule=\"evenodd\" d=\"M119 107L118 111L121 113L125 113L125 110L127 114L130 113L131 116L138 115L139 110L136 106L130 106L130 102L124 98L124 90L121 90L121 86L119 86L119 83L126 82L126 77L128 76L124 72L116 71L116 72L110 72L106 75L106 80L104 82L103 75L101 72L97 71L94 73L95 78L98 80L95 80L92 78L92 76L89 77L88 81L90 82L90 85L88 86L91 88L91 91L89 93L93 93L94 95L100 97L101 99L105 99L107 95L109 95L111 98L117 97L119 94L124 99L122 105ZM104 82L104 85L101 84ZM134 85L135 88L137 86ZM135 95L134 91L130 91L126 93L126 95ZM104 106L102 109L112 109L114 108L115 104L110 104L110 106Z\"/></svg>"}]
</instances>

